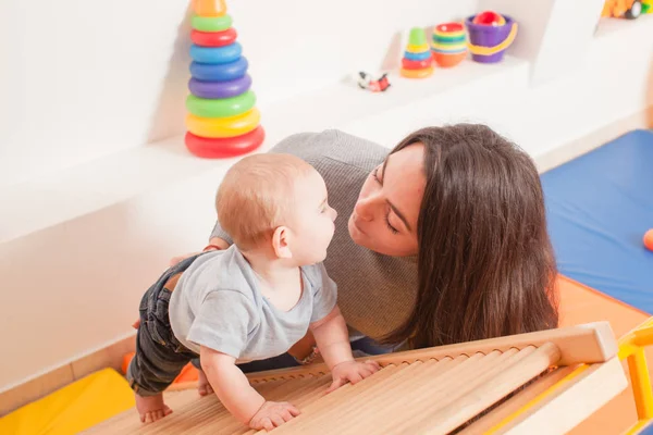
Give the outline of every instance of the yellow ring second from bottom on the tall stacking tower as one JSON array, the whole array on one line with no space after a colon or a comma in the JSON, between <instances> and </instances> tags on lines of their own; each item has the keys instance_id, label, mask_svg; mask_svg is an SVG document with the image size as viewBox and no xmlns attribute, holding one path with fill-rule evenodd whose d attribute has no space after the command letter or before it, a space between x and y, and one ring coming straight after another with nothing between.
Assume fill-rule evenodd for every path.
<instances>
[{"instance_id":1,"label":"yellow ring second from bottom on the tall stacking tower","mask_svg":"<svg viewBox=\"0 0 653 435\"><path fill-rule=\"evenodd\" d=\"M186 128L195 136L210 138L236 137L254 130L261 121L261 112L254 108L241 115L230 117L186 116Z\"/></svg>"}]
</instances>

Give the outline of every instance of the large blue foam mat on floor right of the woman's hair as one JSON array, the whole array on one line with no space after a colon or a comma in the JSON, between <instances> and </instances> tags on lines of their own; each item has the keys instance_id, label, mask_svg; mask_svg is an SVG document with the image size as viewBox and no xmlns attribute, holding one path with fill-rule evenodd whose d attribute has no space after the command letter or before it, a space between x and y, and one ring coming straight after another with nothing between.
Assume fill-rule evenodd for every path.
<instances>
[{"instance_id":1,"label":"large blue foam mat on floor right of the woman's hair","mask_svg":"<svg viewBox=\"0 0 653 435\"><path fill-rule=\"evenodd\" d=\"M634 130L542 174L559 272L653 314L653 132Z\"/></svg>"}]
</instances>

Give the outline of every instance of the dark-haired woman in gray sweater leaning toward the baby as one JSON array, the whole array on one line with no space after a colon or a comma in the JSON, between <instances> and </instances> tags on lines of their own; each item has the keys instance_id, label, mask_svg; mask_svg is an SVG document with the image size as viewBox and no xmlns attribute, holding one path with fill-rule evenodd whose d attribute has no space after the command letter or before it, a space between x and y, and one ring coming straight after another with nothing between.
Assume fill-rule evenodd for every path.
<instances>
[{"instance_id":1,"label":"dark-haired woman in gray sweater leaning toward the baby","mask_svg":"<svg viewBox=\"0 0 653 435\"><path fill-rule=\"evenodd\" d=\"M342 216L324 263L353 348L372 353L381 351L373 341L420 348L557 326L540 177L528 154L489 127L423 128L390 154L338 130L294 135L271 152L312 164ZM229 244L217 223L206 249ZM307 336L291 349L294 359L243 369L310 362L312 345Z\"/></svg>"}]
</instances>

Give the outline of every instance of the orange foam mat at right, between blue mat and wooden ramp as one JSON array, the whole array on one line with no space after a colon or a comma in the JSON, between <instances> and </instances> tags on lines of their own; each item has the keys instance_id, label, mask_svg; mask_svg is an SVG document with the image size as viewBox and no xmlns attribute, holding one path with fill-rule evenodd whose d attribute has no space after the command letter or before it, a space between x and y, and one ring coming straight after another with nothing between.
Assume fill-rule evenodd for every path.
<instances>
[{"instance_id":1,"label":"orange foam mat at right, between blue mat and wooden ramp","mask_svg":"<svg viewBox=\"0 0 653 435\"><path fill-rule=\"evenodd\" d=\"M557 285L560 295L560 327L603 320L611 323L615 336L619 338L649 319L643 311L566 276L559 276ZM649 361L649 372L653 374L651 371L653 348L646 350L646 360ZM624 362L624 369L627 373L626 362ZM632 389L629 386L569 434L619 434L636 422L637 411Z\"/></svg>"}]
</instances>

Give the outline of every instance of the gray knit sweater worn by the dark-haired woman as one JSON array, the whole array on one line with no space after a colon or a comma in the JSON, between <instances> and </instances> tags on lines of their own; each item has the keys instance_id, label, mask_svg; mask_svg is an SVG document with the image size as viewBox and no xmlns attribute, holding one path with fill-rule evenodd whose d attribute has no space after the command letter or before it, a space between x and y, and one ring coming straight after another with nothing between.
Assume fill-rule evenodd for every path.
<instances>
[{"instance_id":1,"label":"gray knit sweater worn by the dark-haired woman","mask_svg":"<svg viewBox=\"0 0 653 435\"><path fill-rule=\"evenodd\" d=\"M340 130L289 136L270 150L297 156L324 178L329 202L338 212L324 265L338 287L337 303L352 335L380 338L410 314L417 293L415 258L387 257L356 245L347 220L369 173L389 150ZM220 223L211 234L232 243Z\"/></svg>"}]
</instances>

